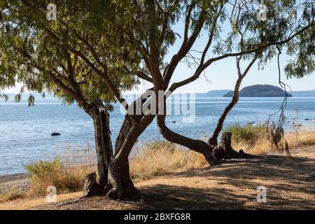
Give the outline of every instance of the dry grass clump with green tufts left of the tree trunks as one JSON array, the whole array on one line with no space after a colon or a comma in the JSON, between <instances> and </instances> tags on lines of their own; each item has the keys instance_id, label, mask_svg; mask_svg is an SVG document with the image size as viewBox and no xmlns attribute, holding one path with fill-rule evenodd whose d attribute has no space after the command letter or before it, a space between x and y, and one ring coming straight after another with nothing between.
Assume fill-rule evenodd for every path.
<instances>
[{"instance_id":1,"label":"dry grass clump with green tufts left of the tree trunks","mask_svg":"<svg viewBox=\"0 0 315 224\"><path fill-rule=\"evenodd\" d=\"M89 146L80 151L66 151L51 162L38 161L25 165L30 174L30 197L47 194L48 186L55 186L57 193L71 193L83 189L84 179L94 167L94 154Z\"/></svg>"}]
</instances>

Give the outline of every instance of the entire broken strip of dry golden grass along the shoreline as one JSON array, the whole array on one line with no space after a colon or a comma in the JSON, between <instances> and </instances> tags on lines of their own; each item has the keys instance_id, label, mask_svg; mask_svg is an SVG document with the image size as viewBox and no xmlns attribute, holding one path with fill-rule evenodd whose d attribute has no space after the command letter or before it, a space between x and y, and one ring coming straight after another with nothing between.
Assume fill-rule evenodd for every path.
<instances>
[{"instance_id":1,"label":"entire broken strip of dry golden grass along the shoreline","mask_svg":"<svg viewBox=\"0 0 315 224\"><path fill-rule=\"evenodd\" d=\"M315 144L315 132L293 131L286 134L290 149ZM233 148L243 149L251 154L275 153L276 148L267 137L257 137L255 141L233 139ZM52 162L35 162L26 165L30 177L27 192L10 189L0 194L0 202L8 202L22 197L46 195L48 186L55 186L57 193L71 193L83 189L85 175L94 172L94 153L89 146L78 151L70 150ZM180 171L207 165L203 155L182 148L167 141L154 141L137 146L130 158L130 175L136 182L154 179L157 176L176 174Z\"/></svg>"}]
</instances>

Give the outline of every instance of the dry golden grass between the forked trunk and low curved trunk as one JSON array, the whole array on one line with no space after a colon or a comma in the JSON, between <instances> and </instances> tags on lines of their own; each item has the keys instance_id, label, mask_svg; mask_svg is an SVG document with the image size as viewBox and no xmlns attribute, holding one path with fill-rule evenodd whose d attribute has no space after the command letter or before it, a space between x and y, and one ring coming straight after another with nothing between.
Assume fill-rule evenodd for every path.
<instances>
[{"instance_id":1,"label":"dry golden grass between the forked trunk and low curved trunk","mask_svg":"<svg viewBox=\"0 0 315 224\"><path fill-rule=\"evenodd\" d=\"M179 172L179 169L199 168L207 164L200 153L183 149L167 141L155 141L138 146L130 159L132 179L152 179Z\"/></svg>"}]
</instances>

